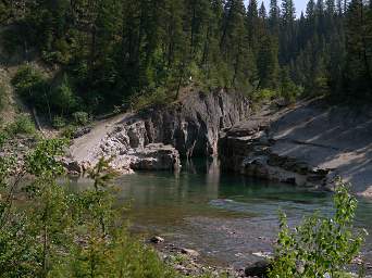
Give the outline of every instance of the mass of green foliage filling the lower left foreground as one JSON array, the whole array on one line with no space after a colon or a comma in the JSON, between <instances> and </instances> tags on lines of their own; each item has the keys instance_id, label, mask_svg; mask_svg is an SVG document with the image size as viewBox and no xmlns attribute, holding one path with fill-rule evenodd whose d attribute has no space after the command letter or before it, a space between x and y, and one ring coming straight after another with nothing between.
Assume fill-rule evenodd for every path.
<instances>
[{"instance_id":1,"label":"mass of green foliage filling the lower left foreground","mask_svg":"<svg viewBox=\"0 0 372 278\"><path fill-rule=\"evenodd\" d=\"M39 142L15 176L15 159L0 157L1 277L176 277L117 220L109 161L89 172L91 189L72 193L57 182L64 146Z\"/></svg>"}]
</instances>

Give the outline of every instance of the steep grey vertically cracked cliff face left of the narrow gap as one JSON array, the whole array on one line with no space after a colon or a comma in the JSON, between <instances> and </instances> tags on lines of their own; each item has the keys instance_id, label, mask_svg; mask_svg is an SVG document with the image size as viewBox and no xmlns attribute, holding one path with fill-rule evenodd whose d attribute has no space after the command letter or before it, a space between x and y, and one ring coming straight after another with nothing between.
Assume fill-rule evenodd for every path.
<instances>
[{"instance_id":1,"label":"steep grey vertically cracked cliff face left of the narrow gap","mask_svg":"<svg viewBox=\"0 0 372 278\"><path fill-rule=\"evenodd\" d=\"M220 131L249 115L248 100L238 93L193 93L172 108L145 113L147 140L174 146L182 156L218 154Z\"/></svg>"}]
</instances>

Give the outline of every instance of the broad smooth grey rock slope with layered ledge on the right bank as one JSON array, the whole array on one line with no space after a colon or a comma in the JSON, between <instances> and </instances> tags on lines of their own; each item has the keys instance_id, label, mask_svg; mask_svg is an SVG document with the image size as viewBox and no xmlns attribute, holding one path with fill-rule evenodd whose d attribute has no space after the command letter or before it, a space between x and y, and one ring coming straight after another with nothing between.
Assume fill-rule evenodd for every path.
<instances>
[{"instance_id":1,"label":"broad smooth grey rock slope with layered ledge on the right bank","mask_svg":"<svg viewBox=\"0 0 372 278\"><path fill-rule=\"evenodd\" d=\"M372 115L322 100L292 108L264 106L225 130L221 165L247 176L333 189L340 176L356 193L372 197Z\"/></svg>"}]
</instances>

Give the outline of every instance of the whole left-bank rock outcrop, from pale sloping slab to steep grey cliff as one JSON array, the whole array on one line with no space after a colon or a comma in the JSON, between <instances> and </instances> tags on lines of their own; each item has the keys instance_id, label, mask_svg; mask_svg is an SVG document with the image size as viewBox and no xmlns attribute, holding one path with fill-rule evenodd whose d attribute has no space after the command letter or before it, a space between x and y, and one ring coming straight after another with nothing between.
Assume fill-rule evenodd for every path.
<instances>
[{"instance_id":1,"label":"whole left-bank rock outcrop, from pale sloping slab to steep grey cliff","mask_svg":"<svg viewBox=\"0 0 372 278\"><path fill-rule=\"evenodd\" d=\"M166 108L123 114L98 123L74 140L65 162L84 172L99 157L111 157L122 173L132 169L176 169L179 156L206 156L218 152L220 131L249 114L248 100L223 90L193 92ZM181 155L179 155L181 154ZM80 165L80 170L77 170Z\"/></svg>"}]
</instances>

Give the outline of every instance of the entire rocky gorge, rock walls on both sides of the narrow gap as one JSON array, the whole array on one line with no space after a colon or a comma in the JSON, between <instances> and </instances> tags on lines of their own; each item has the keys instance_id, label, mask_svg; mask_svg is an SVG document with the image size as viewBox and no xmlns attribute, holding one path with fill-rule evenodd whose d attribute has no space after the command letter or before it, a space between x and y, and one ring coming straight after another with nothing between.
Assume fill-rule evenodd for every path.
<instances>
[{"instance_id":1,"label":"entire rocky gorge, rock walls on both sides of the narrow gap","mask_svg":"<svg viewBox=\"0 0 372 278\"><path fill-rule=\"evenodd\" d=\"M181 157L219 155L224 170L332 190L335 178L371 195L370 112L328 106L323 100L252 111L239 93L194 91L179 101L98 123L74 140L65 165L83 173L113 157L122 173L177 169Z\"/></svg>"}]
</instances>

